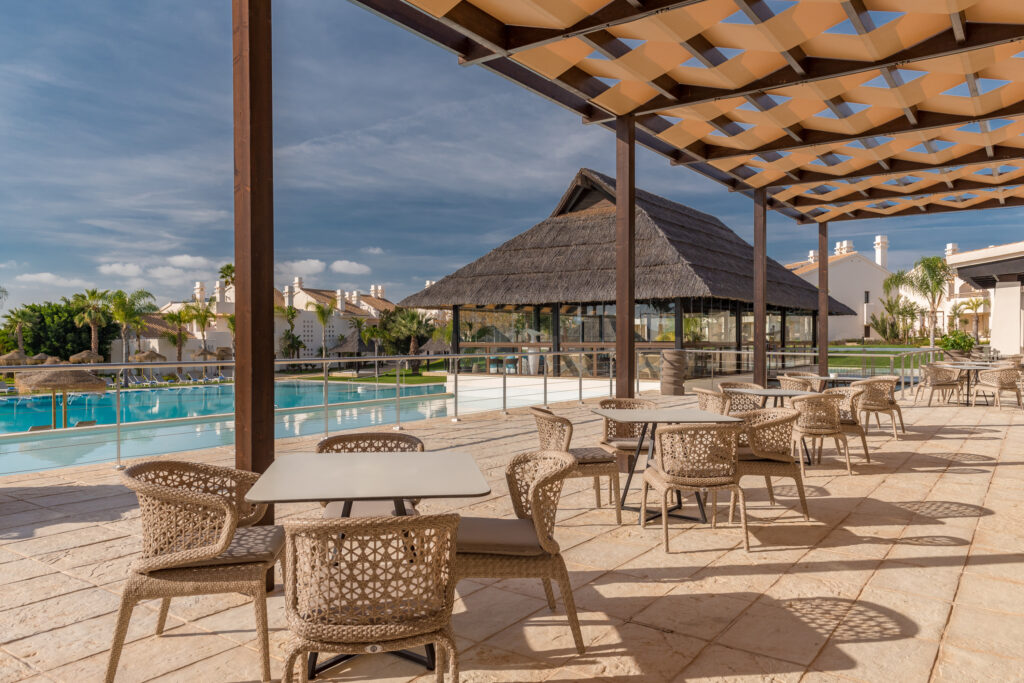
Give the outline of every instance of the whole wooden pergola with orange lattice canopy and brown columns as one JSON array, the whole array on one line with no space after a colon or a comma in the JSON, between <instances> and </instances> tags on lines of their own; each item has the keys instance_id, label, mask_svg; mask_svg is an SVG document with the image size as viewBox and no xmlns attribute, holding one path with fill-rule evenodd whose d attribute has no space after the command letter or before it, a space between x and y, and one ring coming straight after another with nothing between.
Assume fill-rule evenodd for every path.
<instances>
[{"instance_id":1,"label":"whole wooden pergola with orange lattice canopy and brown columns","mask_svg":"<svg viewBox=\"0 0 1024 683\"><path fill-rule=\"evenodd\" d=\"M621 396L636 372L637 144L754 200L762 383L768 209L817 224L825 254L830 221L1024 206L1024 2L352 1L614 131ZM236 442L257 471L273 457L270 4L232 0ZM827 259L818 273L826 309Z\"/></svg>"}]
</instances>

